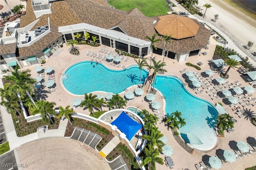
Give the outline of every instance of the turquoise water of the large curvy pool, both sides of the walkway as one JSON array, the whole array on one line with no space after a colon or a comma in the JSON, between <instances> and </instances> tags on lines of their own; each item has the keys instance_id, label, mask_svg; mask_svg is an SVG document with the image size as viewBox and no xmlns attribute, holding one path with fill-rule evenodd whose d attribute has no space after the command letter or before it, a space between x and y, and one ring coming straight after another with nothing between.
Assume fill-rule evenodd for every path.
<instances>
[{"instance_id":1,"label":"turquoise water of the large curvy pool, both sides of the walkway","mask_svg":"<svg viewBox=\"0 0 256 170\"><path fill-rule=\"evenodd\" d=\"M113 92L115 94L140 82L138 66L114 71L101 64L93 64L87 61L70 66L64 72L66 74L65 78L62 79L64 87L69 92L78 95L94 91ZM146 78L146 75L147 72L142 70L142 80ZM212 149L217 142L214 124L218 114L214 106L190 94L182 82L172 76L156 76L155 88L165 96L167 115L176 110L182 113L186 125L180 128L181 135L186 133L196 135L203 143L202 145L192 144L196 149Z\"/></svg>"}]
</instances>

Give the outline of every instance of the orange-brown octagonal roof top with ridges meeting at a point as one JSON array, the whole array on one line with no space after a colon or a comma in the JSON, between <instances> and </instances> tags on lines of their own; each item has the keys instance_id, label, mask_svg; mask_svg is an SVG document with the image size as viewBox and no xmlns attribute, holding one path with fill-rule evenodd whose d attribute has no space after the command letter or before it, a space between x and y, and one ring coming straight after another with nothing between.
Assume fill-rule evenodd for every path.
<instances>
[{"instance_id":1,"label":"orange-brown octagonal roof top with ridges meeting at a point","mask_svg":"<svg viewBox=\"0 0 256 170\"><path fill-rule=\"evenodd\" d=\"M188 17L174 14L159 16L155 25L160 35L172 35L174 39L184 39L196 35L199 26Z\"/></svg>"}]
</instances>

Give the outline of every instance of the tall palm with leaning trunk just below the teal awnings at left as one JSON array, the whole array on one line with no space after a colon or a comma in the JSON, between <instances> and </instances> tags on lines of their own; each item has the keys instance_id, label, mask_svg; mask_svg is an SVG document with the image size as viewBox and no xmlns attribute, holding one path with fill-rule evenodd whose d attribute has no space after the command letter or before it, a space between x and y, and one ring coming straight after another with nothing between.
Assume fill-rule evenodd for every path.
<instances>
[{"instance_id":1,"label":"tall palm with leaning trunk just below the teal awnings at left","mask_svg":"<svg viewBox=\"0 0 256 170\"><path fill-rule=\"evenodd\" d=\"M12 82L10 90L13 94L19 93L22 99L28 95L34 106L36 106L34 99L30 95L35 89L34 84L36 83L36 80L32 78L29 73L30 70L19 71L19 67L16 66L14 71L12 71L12 75L4 75L4 78Z\"/></svg>"}]
</instances>

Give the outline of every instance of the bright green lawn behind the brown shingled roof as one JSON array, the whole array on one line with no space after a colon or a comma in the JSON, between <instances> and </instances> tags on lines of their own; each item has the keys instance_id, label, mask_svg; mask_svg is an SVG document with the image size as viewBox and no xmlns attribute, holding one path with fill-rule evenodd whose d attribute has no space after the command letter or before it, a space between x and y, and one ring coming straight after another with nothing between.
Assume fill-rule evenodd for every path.
<instances>
[{"instance_id":1,"label":"bright green lawn behind the brown shingled roof","mask_svg":"<svg viewBox=\"0 0 256 170\"><path fill-rule=\"evenodd\" d=\"M148 17L167 15L167 12L170 11L165 0L109 0L108 3L122 11L138 8L142 14Z\"/></svg>"}]
</instances>

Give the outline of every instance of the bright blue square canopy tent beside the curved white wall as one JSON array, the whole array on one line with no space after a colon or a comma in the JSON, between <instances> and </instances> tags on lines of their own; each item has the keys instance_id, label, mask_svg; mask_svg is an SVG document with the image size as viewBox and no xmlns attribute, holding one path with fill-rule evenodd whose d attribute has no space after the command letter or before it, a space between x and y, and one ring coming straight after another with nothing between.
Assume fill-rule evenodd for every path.
<instances>
[{"instance_id":1,"label":"bright blue square canopy tent beside the curved white wall","mask_svg":"<svg viewBox=\"0 0 256 170\"><path fill-rule=\"evenodd\" d=\"M134 137L135 133L142 128L140 123L134 121L124 113L124 111L114 121L112 121L111 125L115 125L120 131L122 131L129 141Z\"/></svg>"}]
</instances>

